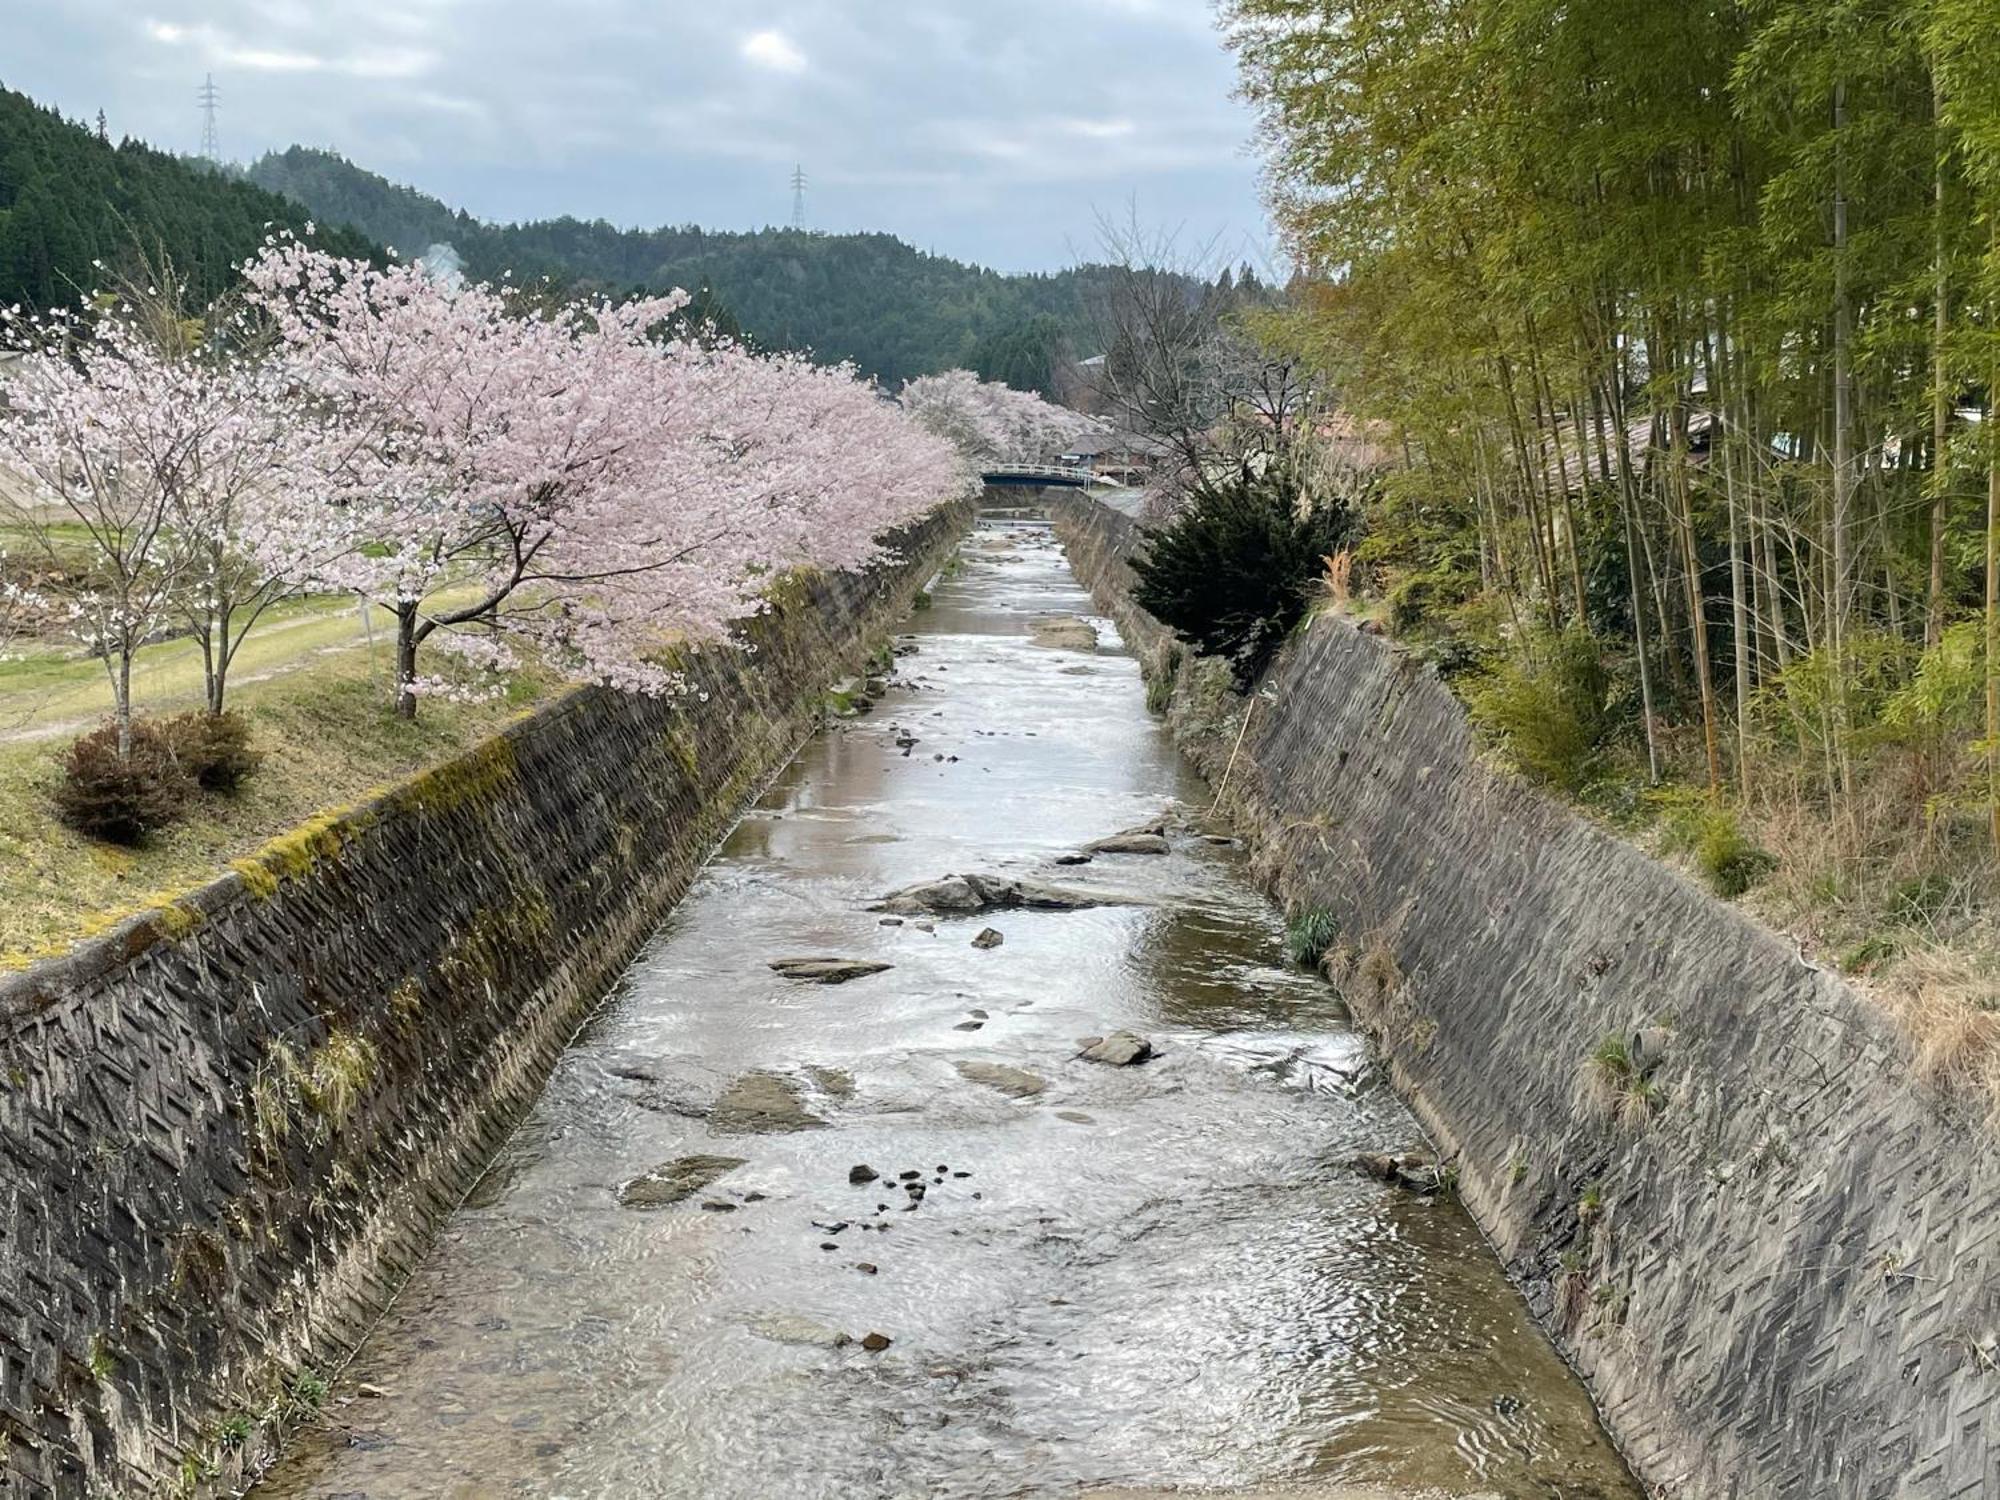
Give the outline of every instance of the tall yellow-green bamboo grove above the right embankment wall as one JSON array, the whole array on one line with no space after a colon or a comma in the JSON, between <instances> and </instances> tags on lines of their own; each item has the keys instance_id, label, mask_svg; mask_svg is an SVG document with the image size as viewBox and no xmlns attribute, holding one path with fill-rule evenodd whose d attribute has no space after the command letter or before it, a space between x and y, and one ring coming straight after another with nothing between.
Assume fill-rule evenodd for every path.
<instances>
[{"instance_id":1,"label":"tall yellow-green bamboo grove above the right embankment wall","mask_svg":"<svg viewBox=\"0 0 2000 1500\"><path fill-rule=\"evenodd\" d=\"M1588 632L1654 780L1678 750L1862 840L1894 760L1904 812L2000 836L2000 6L1222 24L1294 336L1408 456L1370 516L1400 608Z\"/></svg>"}]
</instances>

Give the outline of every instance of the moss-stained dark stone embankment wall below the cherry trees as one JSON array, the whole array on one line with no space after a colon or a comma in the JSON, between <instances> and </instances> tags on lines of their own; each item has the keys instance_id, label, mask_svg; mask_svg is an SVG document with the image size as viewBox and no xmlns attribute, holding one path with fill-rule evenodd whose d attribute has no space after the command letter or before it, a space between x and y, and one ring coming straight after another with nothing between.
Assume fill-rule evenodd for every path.
<instances>
[{"instance_id":1,"label":"moss-stained dark stone embankment wall below the cherry trees","mask_svg":"<svg viewBox=\"0 0 2000 1500\"><path fill-rule=\"evenodd\" d=\"M0 1492L234 1484L970 524L0 980Z\"/></svg>"}]
</instances>

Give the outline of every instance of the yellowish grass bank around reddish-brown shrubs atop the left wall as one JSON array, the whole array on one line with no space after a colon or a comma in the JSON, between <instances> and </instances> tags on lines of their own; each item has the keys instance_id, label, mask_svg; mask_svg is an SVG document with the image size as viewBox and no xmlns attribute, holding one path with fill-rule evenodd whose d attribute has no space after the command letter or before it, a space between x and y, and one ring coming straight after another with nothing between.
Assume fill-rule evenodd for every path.
<instances>
[{"instance_id":1,"label":"yellowish grass bank around reddish-brown shrubs atop the left wall","mask_svg":"<svg viewBox=\"0 0 2000 1500\"><path fill-rule=\"evenodd\" d=\"M204 794L140 850L96 844L56 820L50 790L70 736L0 742L0 970L166 906L316 814L450 760L556 690L552 676L524 674L496 702L430 700L406 722L390 712L382 666L362 650L246 682L230 698L264 764L234 798ZM148 712L164 706L140 700Z\"/></svg>"}]
</instances>

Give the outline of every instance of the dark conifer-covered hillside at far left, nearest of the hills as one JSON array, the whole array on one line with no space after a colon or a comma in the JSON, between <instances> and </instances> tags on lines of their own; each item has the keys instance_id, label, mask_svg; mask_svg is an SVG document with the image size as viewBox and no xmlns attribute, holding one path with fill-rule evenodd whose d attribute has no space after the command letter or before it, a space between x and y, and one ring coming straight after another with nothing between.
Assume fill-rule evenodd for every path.
<instances>
[{"instance_id":1,"label":"dark conifer-covered hillside at far left, nearest of the hills","mask_svg":"<svg viewBox=\"0 0 2000 1500\"><path fill-rule=\"evenodd\" d=\"M0 306L50 308L104 282L134 254L166 258L210 298L256 252L268 224L300 228L306 210L248 182L138 140L110 142L26 94L0 88ZM334 230L324 244L368 254Z\"/></svg>"}]
</instances>

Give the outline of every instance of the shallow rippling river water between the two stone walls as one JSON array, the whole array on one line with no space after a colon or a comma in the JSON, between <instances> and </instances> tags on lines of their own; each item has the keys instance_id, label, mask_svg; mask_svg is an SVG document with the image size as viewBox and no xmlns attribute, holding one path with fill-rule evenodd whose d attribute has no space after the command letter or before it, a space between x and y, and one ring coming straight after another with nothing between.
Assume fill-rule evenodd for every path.
<instances>
[{"instance_id":1,"label":"shallow rippling river water between the two stone walls","mask_svg":"<svg viewBox=\"0 0 2000 1500\"><path fill-rule=\"evenodd\" d=\"M1350 1166L1416 1126L1338 996L1284 968L1110 624L1096 652L1032 640L1090 614L1046 524L988 512L962 558L888 696L744 816L260 1496L1638 1496L1464 1212ZM1162 814L1170 854L1054 864ZM1134 900L928 932L868 910L946 872ZM986 926L1004 942L974 948ZM894 968L768 968L798 954ZM1160 1054L1078 1056L1114 1028ZM816 1124L714 1130L744 1074ZM620 1204L686 1156L742 1164Z\"/></svg>"}]
</instances>

